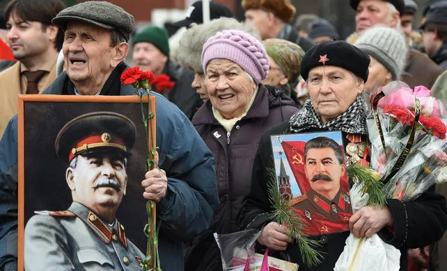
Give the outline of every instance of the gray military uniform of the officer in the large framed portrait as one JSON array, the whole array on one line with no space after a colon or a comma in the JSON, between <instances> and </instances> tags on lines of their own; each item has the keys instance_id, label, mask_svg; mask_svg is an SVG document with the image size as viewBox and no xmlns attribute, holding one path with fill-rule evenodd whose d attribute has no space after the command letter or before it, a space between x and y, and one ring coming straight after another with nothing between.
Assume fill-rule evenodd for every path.
<instances>
[{"instance_id":1,"label":"gray military uniform of the officer in the large framed portrait","mask_svg":"<svg viewBox=\"0 0 447 271\"><path fill-rule=\"evenodd\" d=\"M108 225L97 214L76 202L65 211L36 211L36 214L25 228L27 267L141 270L145 256L127 239L125 227L117 219L113 225ZM61 244L61 240L66 244ZM43 270L38 268L36 270Z\"/></svg>"}]
</instances>

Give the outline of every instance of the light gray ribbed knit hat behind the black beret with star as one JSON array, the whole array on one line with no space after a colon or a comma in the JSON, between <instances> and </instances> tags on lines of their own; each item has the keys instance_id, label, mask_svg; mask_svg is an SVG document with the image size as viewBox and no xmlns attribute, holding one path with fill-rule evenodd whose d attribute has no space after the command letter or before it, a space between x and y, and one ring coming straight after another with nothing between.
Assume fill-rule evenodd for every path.
<instances>
[{"instance_id":1,"label":"light gray ribbed knit hat behind the black beret with star","mask_svg":"<svg viewBox=\"0 0 447 271\"><path fill-rule=\"evenodd\" d=\"M403 34L391 27L371 27L364 31L355 46L374 57L399 80L406 61L406 42Z\"/></svg>"}]
</instances>

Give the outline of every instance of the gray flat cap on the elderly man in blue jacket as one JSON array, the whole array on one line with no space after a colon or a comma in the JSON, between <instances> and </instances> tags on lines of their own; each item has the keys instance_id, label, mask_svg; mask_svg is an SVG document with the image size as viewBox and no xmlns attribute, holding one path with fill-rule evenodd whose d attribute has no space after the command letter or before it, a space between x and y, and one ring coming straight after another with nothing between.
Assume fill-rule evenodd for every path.
<instances>
[{"instance_id":1,"label":"gray flat cap on the elderly man in blue jacket","mask_svg":"<svg viewBox=\"0 0 447 271\"><path fill-rule=\"evenodd\" d=\"M126 10L106 1L86 1L65 8L52 19L52 23L66 30L66 24L73 21L94 24L104 29L118 29L129 41L134 31L134 16Z\"/></svg>"}]
</instances>

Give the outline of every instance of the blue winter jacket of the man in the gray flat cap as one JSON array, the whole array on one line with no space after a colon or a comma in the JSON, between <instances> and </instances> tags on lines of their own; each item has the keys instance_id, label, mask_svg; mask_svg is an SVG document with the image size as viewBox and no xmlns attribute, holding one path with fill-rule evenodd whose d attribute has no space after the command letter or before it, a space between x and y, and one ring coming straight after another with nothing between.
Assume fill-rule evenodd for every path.
<instances>
[{"instance_id":1,"label":"blue winter jacket of the man in the gray flat cap","mask_svg":"<svg viewBox=\"0 0 447 271\"><path fill-rule=\"evenodd\" d=\"M43 94L64 94L67 80L62 73ZM132 85L120 85L120 96L134 94ZM168 177L166 197L157 203L159 256L164 271L177 271L183 270L183 242L208 229L219 206L214 160L183 112L162 95L151 95L157 102L159 168ZM17 115L0 141L0 270L9 270L8 263L17 266Z\"/></svg>"}]
</instances>

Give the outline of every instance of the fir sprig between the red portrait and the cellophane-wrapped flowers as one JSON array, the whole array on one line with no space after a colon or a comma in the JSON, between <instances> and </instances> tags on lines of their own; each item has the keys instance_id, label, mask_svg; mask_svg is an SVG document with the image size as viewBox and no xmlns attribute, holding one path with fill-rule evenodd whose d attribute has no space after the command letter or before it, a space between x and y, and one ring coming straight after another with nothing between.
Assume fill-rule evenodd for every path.
<instances>
[{"instance_id":1,"label":"fir sprig between the red portrait and the cellophane-wrapped flowers","mask_svg":"<svg viewBox=\"0 0 447 271\"><path fill-rule=\"evenodd\" d=\"M381 182L381 176L371 168L363 168L351 164L346 167L346 174L349 180L357 184L362 184L362 195L368 193L369 199L367 205L385 206L386 204L386 191L384 189L383 182Z\"/></svg>"}]
</instances>

